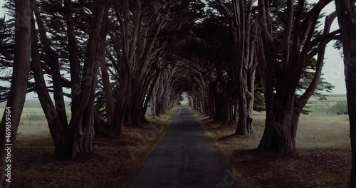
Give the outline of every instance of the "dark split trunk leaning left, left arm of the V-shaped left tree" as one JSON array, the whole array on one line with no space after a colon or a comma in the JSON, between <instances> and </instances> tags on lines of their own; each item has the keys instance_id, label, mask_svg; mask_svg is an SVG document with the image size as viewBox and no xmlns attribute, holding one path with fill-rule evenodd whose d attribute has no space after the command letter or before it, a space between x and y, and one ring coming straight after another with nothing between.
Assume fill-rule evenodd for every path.
<instances>
[{"instance_id":1,"label":"dark split trunk leaning left, left arm of the V-shaped left tree","mask_svg":"<svg viewBox=\"0 0 356 188\"><path fill-rule=\"evenodd\" d=\"M53 142L56 147L56 157L59 158L71 158L70 145L71 137L70 126L68 126L68 120L66 115L66 107L63 97L63 87L61 80L61 70L58 61L58 55L51 48L50 40L46 35L46 28L44 26L40 11L37 8L36 1L31 0L33 3L33 13L36 16L36 22L38 26L38 33L40 34L41 43L43 43L43 49L46 53L46 64L51 68L52 80L53 80L53 98L55 103L53 104L49 97L48 90L46 89L46 83L43 78L43 71L41 70L41 60L39 58L38 42L36 36L36 30L34 29L33 20L33 71L35 73L35 80L38 81L36 88L38 98L40 100L43 111L48 121L48 127L50 128ZM42 88L44 87L44 88ZM77 88L78 89L78 88Z\"/></svg>"}]
</instances>

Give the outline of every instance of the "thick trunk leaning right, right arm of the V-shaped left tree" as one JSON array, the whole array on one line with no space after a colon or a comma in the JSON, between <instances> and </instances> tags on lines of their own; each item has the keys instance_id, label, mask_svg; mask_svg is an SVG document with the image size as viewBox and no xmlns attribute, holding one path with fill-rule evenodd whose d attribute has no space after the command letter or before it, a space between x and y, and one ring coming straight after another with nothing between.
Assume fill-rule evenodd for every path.
<instances>
[{"instance_id":1,"label":"thick trunk leaning right, right arm of the V-shaped left tree","mask_svg":"<svg viewBox=\"0 0 356 188\"><path fill-rule=\"evenodd\" d=\"M80 101L75 102L73 117L70 120L71 150L67 155L73 159L78 153L91 152L94 134L94 97L98 81L98 68L105 49L106 23L108 19L108 1L94 1L94 16L90 31L88 46L85 53L82 95Z\"/></svg>"}]
</instances>

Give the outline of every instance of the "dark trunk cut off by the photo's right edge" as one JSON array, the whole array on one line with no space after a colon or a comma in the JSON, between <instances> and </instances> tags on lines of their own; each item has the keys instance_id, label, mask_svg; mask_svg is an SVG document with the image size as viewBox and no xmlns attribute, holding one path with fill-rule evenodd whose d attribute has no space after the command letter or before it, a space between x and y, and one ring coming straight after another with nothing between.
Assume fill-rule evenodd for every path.
<instances>
[{"instance_id":1,"label":"dark trunk cut off by the photo's right edge","mask_svg":"<svg viewBox=\"0 0 356 188\"><path fill-rule=\"evenodd\" d=\"M349 187L356 187L356 6L355 1L335 1L345 63L347 108L350 120L352 167Z\"/></svg>"}]
</instances>

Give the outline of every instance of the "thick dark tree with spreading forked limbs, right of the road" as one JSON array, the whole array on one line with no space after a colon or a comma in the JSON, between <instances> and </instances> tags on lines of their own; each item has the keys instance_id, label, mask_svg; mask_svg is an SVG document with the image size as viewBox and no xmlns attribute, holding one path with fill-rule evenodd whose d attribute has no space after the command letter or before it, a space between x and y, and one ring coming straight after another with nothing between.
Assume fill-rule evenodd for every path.
<instances>
[{"instance_id":1,"label":"thick dark tree with spreading forked limbs, right of the road","mask_svg":"<svg viewBox=\"0 0 356 188\"><path fill-rule=\"evenodd\" d=\"M270 16L270 1L258 0L258 14L261 31L261 40L258 41L259 71L263 78L263 92L266 99L266 127L258 150L274 151L284 155L295 152L295 138L298 119L305 104L314 93L320 71L323 67L325 46L338 33L329 33L329 16L325 23L325 32L312 40L315 26L320 11L330 4L331 0L320 0L301 20L305 1L298 1L296 11L293 11L293 1L288 0L288 18L294 21L286 21L283 32L282 46L290 46L290 50L276 45L273 38L273 26ZM294 16L293 16L294 14ZM293 25L293 34L290 28ZM329 28L328 28L329 27ZM303 46L301 45L303 43ZM318 46L315 52L313 48ZM289 54L287 54L289 53ZM295 98L295 90L298 87L303 69L310 58L318 53L318 67L314 79L310 83L301 98ZM283 60L279 61L278 57Z\"/></svg>"}]
</instances>

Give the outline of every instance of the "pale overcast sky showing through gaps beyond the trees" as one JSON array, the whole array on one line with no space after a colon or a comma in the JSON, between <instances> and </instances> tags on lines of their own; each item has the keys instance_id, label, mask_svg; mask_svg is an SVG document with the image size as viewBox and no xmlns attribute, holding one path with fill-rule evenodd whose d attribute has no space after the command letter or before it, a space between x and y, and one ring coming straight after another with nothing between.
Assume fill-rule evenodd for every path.
<instances>
[{"instance_id":1,"label":"pale overcast sky showing through gaps beyond the trees","mask_svg":"<svg viewBox=\"0 0 356 188\"><path fill-rule=\"evenodd\" d=\"M311 2L317 2L318 0L310 0ZM0 16L4 16L3 8L2 5L4 4L4 0L0 0ZM330 3L327 7L324 9L326 14L330 14L333 11L335 11L335 4ZM323 27L323 26L322 26ZM321 27L321 28L322 28ZM335 19L333 26L332 26L332 31L337 29L337 20ZM336 49L333 48L334 42L331 42L328 44L328 47L326 48L326 54L325 54L325 66L323 68L323 78L328 80L328 82L332 83L335 86L335 89L332 91L332 94L345 94L346 93L346 88L345 88L345 75L344 75L344 67L343 67L343 61L340 56L340 51L337 51ZM33 94L30 94L31 98Z\"/></svg>"}]
</instances>

